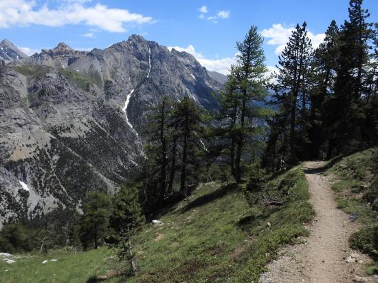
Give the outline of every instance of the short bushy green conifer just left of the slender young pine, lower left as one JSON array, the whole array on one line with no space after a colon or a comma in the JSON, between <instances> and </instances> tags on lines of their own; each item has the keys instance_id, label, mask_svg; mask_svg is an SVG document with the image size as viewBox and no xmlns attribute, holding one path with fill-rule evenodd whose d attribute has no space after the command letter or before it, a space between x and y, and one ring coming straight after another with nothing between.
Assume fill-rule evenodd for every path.
<instances>
[{"instance_id":1,"label":"short bushy green conifer just left of the slender young pine, lower left","mask_svg":"<svg viewBox=\"0 0 378 283\"><path fill-rule=\"evenodd\" d=\"M102 192L88 194L80 227L80 240L85 248L89 242L93 242L94 249L97 249L98 242L105 236L109 224L110 203L109 196Z\"/></svg>"}]
</instances>

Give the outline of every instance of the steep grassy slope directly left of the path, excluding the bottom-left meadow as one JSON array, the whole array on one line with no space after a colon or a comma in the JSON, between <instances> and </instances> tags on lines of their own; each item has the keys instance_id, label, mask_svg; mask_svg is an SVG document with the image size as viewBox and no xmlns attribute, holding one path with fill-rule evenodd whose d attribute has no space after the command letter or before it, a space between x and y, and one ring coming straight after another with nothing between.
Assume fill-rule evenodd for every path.
<instances>
[{"instance_id":1,"label":"steep grassy slope directly left of the path, excluding the bottom-left meadow","mask_svg":"<svg viewBox=\"0 0 378 283\"><path fill-rule=\"evenodd\" d=\"M287 204L253 212L241 190L202 185L160 219L164 225L146 225L135 237L140 273L130 281L256 282L278 247L307 234L302 223L313 210L304 174L294 171L298 180Z\"/></svg>"}]
</instances>

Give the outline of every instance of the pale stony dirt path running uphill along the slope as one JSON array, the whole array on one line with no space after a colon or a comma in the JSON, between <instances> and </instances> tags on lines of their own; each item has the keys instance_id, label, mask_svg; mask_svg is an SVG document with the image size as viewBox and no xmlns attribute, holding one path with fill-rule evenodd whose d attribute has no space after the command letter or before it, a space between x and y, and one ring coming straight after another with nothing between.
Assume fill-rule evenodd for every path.
<instances>
[{"instance_id":1,"label":"pale stony dirt path running uphill along the slope","mask_svg":"<svg viewBox=\"0 0 378 283\"><path fill-rule=\"evenodd\" d=\"M302 239L302 245L282 249L278 260L271 262L269 271L261 276L260 283L377 282L364 273L368 258L349 248L348 238L356 231L357 223L337 209L329 177L316 170L322 166L322 162L304 164L310 202L316 212L315 220L307 227L309 237Z\"/></svg>"}]
</instances>

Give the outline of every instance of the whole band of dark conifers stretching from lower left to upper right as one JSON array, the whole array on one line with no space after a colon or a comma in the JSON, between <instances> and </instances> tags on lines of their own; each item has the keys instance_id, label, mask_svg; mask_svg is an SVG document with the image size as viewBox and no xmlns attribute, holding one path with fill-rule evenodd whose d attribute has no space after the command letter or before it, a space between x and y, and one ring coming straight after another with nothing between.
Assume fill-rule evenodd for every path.
<instances>
[{"instance_id":1,"label":"whole band of dark conifers stretching from lower left to upper right","mask_svg":"<svg viewBox=\"0 0 378 283\"><path fill-rule=\"evenodd\" d=\"M218 111L205 111L188 97L162 95L146 124L139 177L112 197L89 193L74 220L43 216L34 220L38 229L31 228L33 220L5 224L0 249L96 249L107 242L120 248L120 258L135 272L131 238L137 227L198 183L229 176L241 183L248 175L250 198L262 187L262 168L274 172L377 144L378 24L368 22L362 0L351 0L348 11L349 19L340 27L332 21L315 50L307 23L297 25L272 78L263 38L252 26L236 45L237 62L223 91L214 93Z\"/></svg>"}]
</instances>

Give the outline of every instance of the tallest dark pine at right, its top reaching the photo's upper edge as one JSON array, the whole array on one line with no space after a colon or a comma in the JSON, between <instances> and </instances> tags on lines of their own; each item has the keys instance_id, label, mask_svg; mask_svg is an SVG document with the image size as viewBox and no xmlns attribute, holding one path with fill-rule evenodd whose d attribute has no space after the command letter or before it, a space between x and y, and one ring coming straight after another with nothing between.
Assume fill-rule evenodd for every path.
<instances>
[{"instance_id":1,"label":"tallest dark pine at right, its top reaching the photo's upper edge","mask_svg":"<svg viewBox=\"0 0 378 283\"><path fill-rule=\"evenodd\" d=\"M335 116L330 142L329 157L345 150L361 148L364 141L362 131L365 113L361 107L364 95L364 66L368 60L372 37L370 15L362 8L362 0L351 0L349 20L344 22L340 32L340 59L335 82Z\"/></svg>"}]
</instances>

